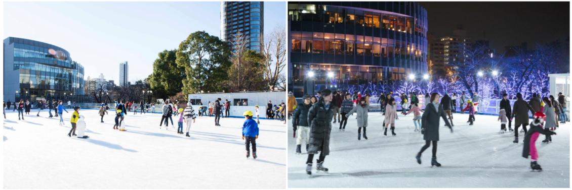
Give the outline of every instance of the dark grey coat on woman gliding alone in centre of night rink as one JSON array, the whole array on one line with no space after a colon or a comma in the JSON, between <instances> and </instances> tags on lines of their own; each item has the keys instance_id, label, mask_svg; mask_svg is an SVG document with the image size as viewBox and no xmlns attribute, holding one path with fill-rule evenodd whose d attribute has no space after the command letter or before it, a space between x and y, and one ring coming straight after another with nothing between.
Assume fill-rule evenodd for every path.
<instances>
[{"instance_id":1,"label":"dark grey coat on woman gliding alone in centre of night rink","mask_svg":"<svg viewBox=\"0 0 572 190\"><path fill-rule=\"evenodd\" d=\"M428 104L421 117L421 129L425 129L423 133L423 140L425 141L439 141L439 120L443 118L445 125L451 128L451 123L447 120L447 115L442 106L435 108L434 104Z\"/></svg>"}]
</instances>

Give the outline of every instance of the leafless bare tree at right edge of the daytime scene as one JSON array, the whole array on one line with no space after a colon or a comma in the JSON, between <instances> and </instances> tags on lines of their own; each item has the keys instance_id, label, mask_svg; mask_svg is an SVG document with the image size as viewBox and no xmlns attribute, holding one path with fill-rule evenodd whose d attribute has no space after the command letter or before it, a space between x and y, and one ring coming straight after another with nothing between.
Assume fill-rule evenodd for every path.
<instances>
[{"instance_id":1,"label":"leafless bare tree at right edge of the daytime scene","mask_svg":"<svg viewBox=\"0 0 572 190\"><path fill-rule=\"evenodd\" d=\"M280 73L286 66L287 38L283 24L277 25L268 35L260 36L261 53L264 55L264 79L269 88L279 85Z\"/></svg>"}]
</instances>

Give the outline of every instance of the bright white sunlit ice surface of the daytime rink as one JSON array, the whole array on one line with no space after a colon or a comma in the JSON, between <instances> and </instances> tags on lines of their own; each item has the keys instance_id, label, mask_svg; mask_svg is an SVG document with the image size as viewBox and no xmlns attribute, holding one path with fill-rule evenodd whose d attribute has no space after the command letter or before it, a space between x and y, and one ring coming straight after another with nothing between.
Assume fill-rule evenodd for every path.
<instances>
[{"instance_id":1,"label":"bright white sunlit ice surface of the daytime rink","mask_svg":"<svg viewBox=\"0 0 572 190\"><path fill-rule=\"evenodd\" d=\"M25 121L7 110L3 121L3 188L174 189L284 188L285 126L261 120L258 159L247 160L241 139L243 118L197 117L190 138L177 129L159 129L161 114L126 115L126 130L113 130L109 111L80 110L89 139L69 138L70 113L47 118L32 110ZM53 112L52 112L53 113ZM173 116L177 127L178 116ZM164 126L164 125L163 125ZM557 138L555 138L557 139ZM252 158L252 157L251 157Z\"/></svg>"}]
</instances>

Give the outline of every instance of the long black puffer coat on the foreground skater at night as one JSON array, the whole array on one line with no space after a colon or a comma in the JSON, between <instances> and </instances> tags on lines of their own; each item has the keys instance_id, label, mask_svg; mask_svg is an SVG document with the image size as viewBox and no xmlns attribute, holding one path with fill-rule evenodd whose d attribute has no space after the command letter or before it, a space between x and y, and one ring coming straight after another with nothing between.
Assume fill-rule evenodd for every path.
<instances>
[{"instance_id":1,"label":"long black puffer coat on the foreground skater at night","mask_svg":"<svg viewBox=\"0 0 572 190\"><path fill-rule=\"evenodd\" d=\"M308 123L310 123L308 154L317 154L321 151L329 155L329 134L332 131L333 105L325 108L324 100L316 102L308 111Z\"/></svg>"}]
</instances>

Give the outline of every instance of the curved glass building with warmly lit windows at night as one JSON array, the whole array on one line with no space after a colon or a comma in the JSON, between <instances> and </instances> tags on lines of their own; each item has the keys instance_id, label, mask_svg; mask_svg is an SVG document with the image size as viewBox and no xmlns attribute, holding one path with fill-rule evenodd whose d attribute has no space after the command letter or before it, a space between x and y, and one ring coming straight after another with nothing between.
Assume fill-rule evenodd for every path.
<instances>
[{"instance_id":1,"label":"curved glass building with warmly lit windows at night","mask_svg":"<svg viewBox=\"0 0 572 190\"><path fill-rule=\"evenodd\" d=\"M415 2L288 2L288 90L406 80L427 73L427 11Z\"/></svg>"}]
</instances>

